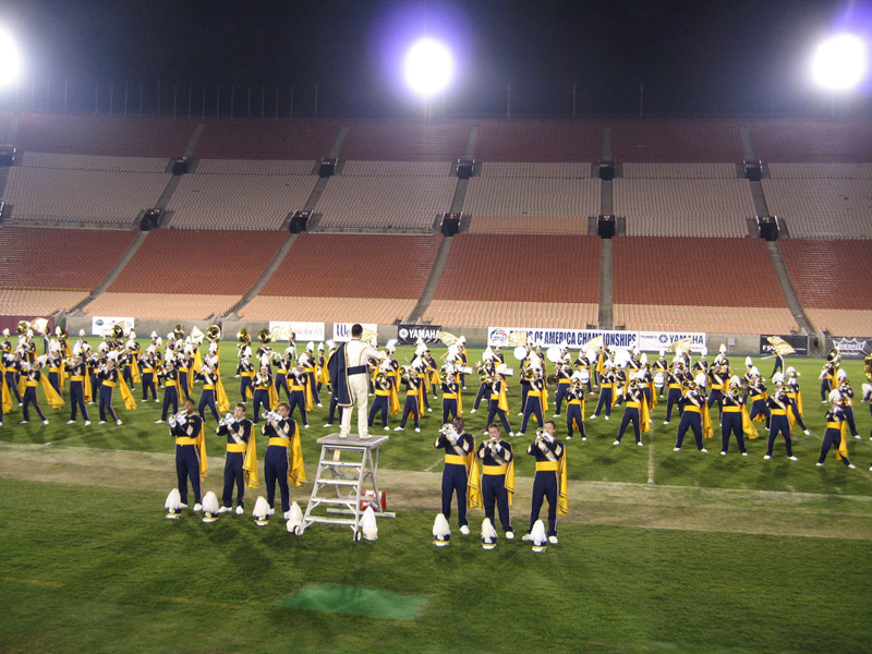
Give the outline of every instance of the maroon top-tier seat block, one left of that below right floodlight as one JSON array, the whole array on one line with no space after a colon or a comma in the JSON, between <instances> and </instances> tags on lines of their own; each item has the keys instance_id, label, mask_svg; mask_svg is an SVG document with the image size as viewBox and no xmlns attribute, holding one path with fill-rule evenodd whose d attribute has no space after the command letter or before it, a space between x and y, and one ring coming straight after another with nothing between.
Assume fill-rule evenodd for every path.
<instances>
[{"instance_id":1,"label":"maroon top-tier seat block, one left of that below right floodlight","mask_svg":"<svg viewBox=\"0 0 872 654\"><path fill-rule=\"evenodd\" d=\"M614 121L611 154L616 161L742 161L737 123L692 120Z\"/></svg>"}]
</instances>

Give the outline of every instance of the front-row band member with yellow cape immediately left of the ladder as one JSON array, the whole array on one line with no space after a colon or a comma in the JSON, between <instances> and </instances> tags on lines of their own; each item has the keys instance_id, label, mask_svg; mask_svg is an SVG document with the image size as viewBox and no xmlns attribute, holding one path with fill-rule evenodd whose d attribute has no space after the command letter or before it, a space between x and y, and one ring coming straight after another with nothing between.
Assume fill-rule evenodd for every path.
<instances>
[{"instance_id":1,"label":"front-row band member with yellow cape immediately left of the ladder","mask_svg":"<svg viewBox=\"0 0 872 654\"><path fill-rule=\"evenodd\" d=\"M292 417L289 417L288 402L279 402L277 412L270 412L262 427L262 433L269 437L264 456L264 475L266 477L266 499L270 514L275 513L276 483L281 494L281 511L286 520L290 519L291 495L289 482L300 486L305 483L303 457L300 447L300 429Z\"/></svg>"}]
</instances>

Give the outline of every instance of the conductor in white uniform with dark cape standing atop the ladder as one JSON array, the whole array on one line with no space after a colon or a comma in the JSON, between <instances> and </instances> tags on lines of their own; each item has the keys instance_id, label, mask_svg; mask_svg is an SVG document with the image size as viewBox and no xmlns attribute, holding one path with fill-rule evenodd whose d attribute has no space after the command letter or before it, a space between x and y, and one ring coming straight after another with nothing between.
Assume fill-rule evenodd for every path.
<instances>
[{"instance_id":1,"label":"conductor in white uniform with dark cape standing atop the ladder","mask_svg":"<svg viewBox=\"0 0 872 654\"><path fill-rule=\"evenodd\" d=\"M370 437L367 420L370 379L366 375L366 361L385 359L385 353L363 342L361 336L363 336L363 327L355 323L351 326L351 340L334 353L328 364L330 382L337 396L337 405L344 409L341 411L340 438L347 438L351 433L353 407L358 408L358 435L361 438Z\"/></svg>"}]
</instances>

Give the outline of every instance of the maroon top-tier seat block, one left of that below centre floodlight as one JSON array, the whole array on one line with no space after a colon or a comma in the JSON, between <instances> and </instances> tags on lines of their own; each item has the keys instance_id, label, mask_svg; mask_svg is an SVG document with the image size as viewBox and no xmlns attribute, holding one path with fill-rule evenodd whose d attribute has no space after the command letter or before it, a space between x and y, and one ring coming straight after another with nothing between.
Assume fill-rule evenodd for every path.
<instances>
[{"instance_id":1,"label":"maroon top-tier seat block, one left of that below centre floodlight","mask_svg":"<svg viewBox=\"0 0 872 654\"><path fill-rule=\"evenodd\" d=\"M197 142L197 159L306 159L327 156L341 123L332 120L294 118L205 119Z\"/></svg>"}]
</instances>

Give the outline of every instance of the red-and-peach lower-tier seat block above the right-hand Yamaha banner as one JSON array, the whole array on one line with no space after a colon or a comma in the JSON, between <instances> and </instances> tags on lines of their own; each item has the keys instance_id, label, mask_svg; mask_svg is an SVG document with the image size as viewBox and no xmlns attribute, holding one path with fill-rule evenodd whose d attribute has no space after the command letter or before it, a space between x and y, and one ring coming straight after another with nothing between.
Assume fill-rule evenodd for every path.
<instances>
[{"instance_id":1,"label":"red-and-peach lower-tier seat block above the right-hand Yamaha banner","mask_svg":"<svg viewBox=\"0 0 872 654\"><path fill-rule=\"evenodd\" d=\"M798 328L761 240L617 237L613 257L615 324L628 329Z\"/></svg>"}]
</instances>

